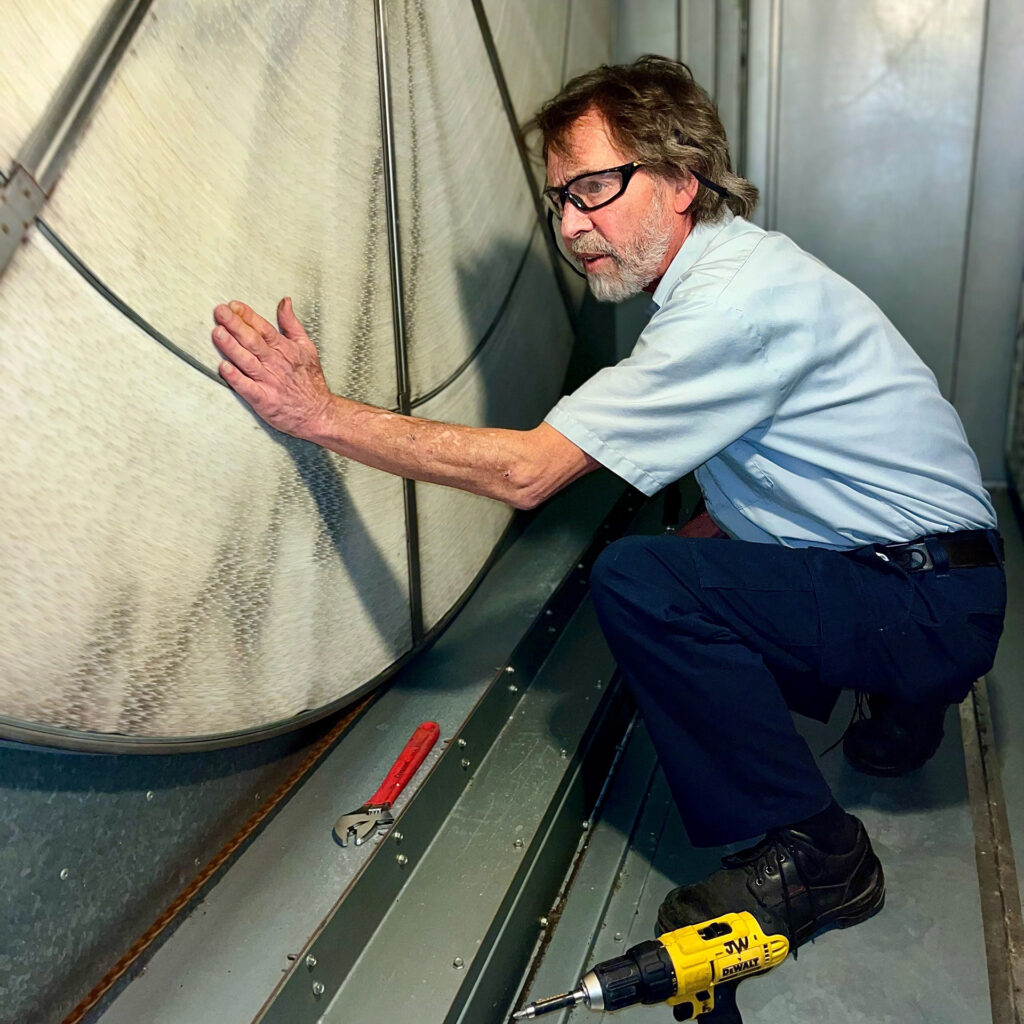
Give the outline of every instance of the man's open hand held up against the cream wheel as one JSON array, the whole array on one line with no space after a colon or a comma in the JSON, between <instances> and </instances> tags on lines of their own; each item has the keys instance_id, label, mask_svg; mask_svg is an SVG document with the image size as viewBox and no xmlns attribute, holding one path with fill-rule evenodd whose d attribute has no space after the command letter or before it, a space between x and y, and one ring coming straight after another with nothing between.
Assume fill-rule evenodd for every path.
<instances>
[{"instance_id":1,"label":"man's open hand held up against the cream wheel","mask_svg":"<svg viewBox=\"0 0 1024 1024\"><path fill-rule=\"evenodd\" d=\"M333 396L292 300L278 304L280 331L244 302L217 306L213 318L213 343L224 356L218 372L227 384L271 427L293 437L315 434Z\"/></svg>"}]
</instances>

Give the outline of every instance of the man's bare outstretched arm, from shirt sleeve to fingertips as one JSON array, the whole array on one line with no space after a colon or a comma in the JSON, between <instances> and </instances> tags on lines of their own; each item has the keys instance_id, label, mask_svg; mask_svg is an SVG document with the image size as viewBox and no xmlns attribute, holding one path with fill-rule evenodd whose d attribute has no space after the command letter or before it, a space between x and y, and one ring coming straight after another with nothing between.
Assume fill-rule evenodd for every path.
<instances>
[{"instance_id":1,"label":"man's bare outstretched arm, from shirt sleeve to fingertips","mask_svg":"<svg viewBox=\"0 0 1024 1024\"><path fill-rule=\"evenodd\" d=\"M280 332L243 302L217 306L214 319L220 376L257 416L375 469L525 509L599 465L546 423L532 430L464 427L333 394L290 299L278 306Z\"/></svg>"}]
</instances>

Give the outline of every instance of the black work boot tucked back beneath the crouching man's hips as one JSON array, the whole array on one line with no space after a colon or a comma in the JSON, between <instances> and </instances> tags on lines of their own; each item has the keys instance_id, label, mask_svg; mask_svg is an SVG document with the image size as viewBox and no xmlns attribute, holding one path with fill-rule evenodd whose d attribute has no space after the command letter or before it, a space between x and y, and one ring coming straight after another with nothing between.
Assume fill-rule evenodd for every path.
<instances>
[{"instance_id":1,"label":"black work boot tucked back beneath the crouching man's hips","mask_svg":"<svg viewBox=\"0 0 1024 1024\"><path fill-rule=\"evenodd\" d=\"M945 703L908 703L881 694L867 697L870 717L854 722L843 755L865 775L906 775L920 768L942 742Z\"/></svg>"}]
</instances>

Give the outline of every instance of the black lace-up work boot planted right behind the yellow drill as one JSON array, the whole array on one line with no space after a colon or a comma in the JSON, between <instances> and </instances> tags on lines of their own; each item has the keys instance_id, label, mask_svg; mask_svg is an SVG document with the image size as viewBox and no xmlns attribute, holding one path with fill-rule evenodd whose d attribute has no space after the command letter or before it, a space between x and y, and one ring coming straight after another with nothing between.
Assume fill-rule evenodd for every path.
<instances>
[{"instance_id":1,"label":"black lace-up work boot planted right behind the yellow drill","mask_svg":"<svg viewBox=\"0 0 1024 1024\"><path fill-rule=\"evenodd\" d=\"M849 928L882 909L882 864L856 818L846 853L830 854L795 828L775 828L749 850L723 857L722 870L673 889L657 911L657 934L749 910L793 948L826 928Z\"/></svg>"}]
</instances>

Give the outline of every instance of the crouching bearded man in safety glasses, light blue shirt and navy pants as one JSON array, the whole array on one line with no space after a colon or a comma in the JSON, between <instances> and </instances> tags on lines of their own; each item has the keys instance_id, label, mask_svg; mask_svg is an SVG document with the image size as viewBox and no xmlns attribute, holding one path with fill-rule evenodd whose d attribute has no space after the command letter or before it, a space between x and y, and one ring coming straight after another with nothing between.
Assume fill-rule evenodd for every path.
<instances>
[{"instance_id":1,"label":"crouching bearded man in safety glasses, light blue shirt and navy pants","mask_svg":"<svg viewBox=\"0 0 1024 1024\"><path fill-rule=\"evenodd\" d=\"M696 469L732 540L620 541L594 600L692 841L765 838L670 893L658 929L749 909L796 946L877 912L885 883L791 710L824 720L859 688L878 713L849 737L860 767L931 755L1001 631L992 506L955 413L882 312L744 219L757 189L685 66L598 69L536 126L591 289L653 292L628 359L532 430L433 423L332 394L286 299L280 334L242 303L216 308L220 372L281 430L518 508L601 464L646 494Z\"/></svg>"}]
</instances>

